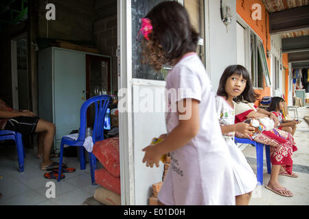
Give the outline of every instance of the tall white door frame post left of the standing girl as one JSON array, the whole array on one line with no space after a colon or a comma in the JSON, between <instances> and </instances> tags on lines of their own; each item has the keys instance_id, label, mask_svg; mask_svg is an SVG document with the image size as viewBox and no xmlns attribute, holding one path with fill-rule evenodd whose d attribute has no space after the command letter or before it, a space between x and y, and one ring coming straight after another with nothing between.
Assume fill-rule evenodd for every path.
<instances>
[{"instance_id":1,"label":"tall white door frame post left of the standing girl","mask_svg":"<svg viewBox=\"0 0 309 219\"><path fill-rule=\"evenodd\" d=\"M122 205L135 205L131 0L117 0L119 156Z\"/></svg>"}]
</instances>

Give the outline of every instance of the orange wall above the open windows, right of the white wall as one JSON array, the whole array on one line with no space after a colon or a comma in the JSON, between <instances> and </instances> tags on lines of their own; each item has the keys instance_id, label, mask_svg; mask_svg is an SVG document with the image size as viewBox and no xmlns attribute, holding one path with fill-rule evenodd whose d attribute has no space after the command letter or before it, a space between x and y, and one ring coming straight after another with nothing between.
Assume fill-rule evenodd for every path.
<instances>
[{"instance_id":1,"label":"orange wall above the open windows, right of the white wall","mask_svg":"<svg viewBox=\"0 0 309 219\"><path fill-rule=\"evenodd\" d=\"M251 18L251 12L252 5L254 3L259 3L261 5L261 14L262 19L254 21ZM242 0L236 0L236 12L242 17L242 19L255 31L258 36L263 40L265 54L266 54L266 48L268 51L271 50L271 34L269 34L269 16L268 12L266 11L264 4L260 0L246 0L244 1L244 4L242 5ZM266 14L267 13L267 21L266 21ZM266 23L267 22L267 47L266 47ZM268 65L268 71L269 74L271 74L271 59L267 58L267 65ZM271 75L269 75L271 77ZM266 83L264 80L264 90L255 90L260 94L260 99L262 99L263 96L271 96L271 88L266 87ZM258 101L255 103L258 104Z\"/></svg>"}]
</instances>

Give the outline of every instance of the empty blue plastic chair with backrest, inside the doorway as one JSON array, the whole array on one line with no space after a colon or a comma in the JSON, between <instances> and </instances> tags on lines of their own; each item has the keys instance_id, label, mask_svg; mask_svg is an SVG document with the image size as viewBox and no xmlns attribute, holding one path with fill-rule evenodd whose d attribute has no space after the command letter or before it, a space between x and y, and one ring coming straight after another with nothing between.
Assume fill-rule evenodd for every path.
<instances>
[{"instance_id":1,"label":"empty blue plastic chair with backrest, inside the doorway","mask_svg":"<svg viewBox=\"0 0 309 219\"><path fill-rule=\"evenodd\" d=\"M104 117L107 107L111 101L111 96L100 95L93 96L82 104L80 109L80 133L77 140L73 140L69 137L62 137L60 144L60 157L59 157L59 168L58 173L61 173L62 169L62 156L63 156L63 145L67 144L70 146L80 146L80 170L86 169L86 162L84 159L84 140L86 134L87 125L87 109L95 103L95 122L93 125L92 140L93 145L95 142L104 140ZM91 170L91 183L95 185L95 168L96 168L96 157L93 153L89 153L89 164ZM61 174L58 174L58 181L60 181Z\"/></svg>"}]
</instances>

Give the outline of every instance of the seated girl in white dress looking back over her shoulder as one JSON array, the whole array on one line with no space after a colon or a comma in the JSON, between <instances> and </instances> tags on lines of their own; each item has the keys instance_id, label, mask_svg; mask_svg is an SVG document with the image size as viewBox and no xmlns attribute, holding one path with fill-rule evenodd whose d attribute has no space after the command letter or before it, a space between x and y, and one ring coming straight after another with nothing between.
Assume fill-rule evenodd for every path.
<instances>
[{"instance_id":1,"label":"seated girl in white dress looking back over her shoulder","mask_svg":"<svg viewBox=\"0 0 309 219\"><path fill-rule=\"evenodd\" d=\"M232 159L232 168L234 175L234 194L236 196L236 205L248 205L251 193L255 189L258 181L249 166L246 157L233 138L235 131L246 135L251 135L255 130L248 123L237 123L235 121L234 98L240 94L247 94L251 86L250 75L246 68L240 65L228 66L223 72L216 96L216 109L221 126L222 136L227 142L229 153Z\"/></svg>"}]
</instances>

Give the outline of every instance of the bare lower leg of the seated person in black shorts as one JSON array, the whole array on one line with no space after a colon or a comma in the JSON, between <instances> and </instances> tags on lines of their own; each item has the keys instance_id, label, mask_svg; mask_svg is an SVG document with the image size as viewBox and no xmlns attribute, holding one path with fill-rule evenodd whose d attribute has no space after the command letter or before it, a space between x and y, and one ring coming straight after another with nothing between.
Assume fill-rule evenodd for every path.
<instances>
[{"instance_id":1,"label":"bare lower leg of the seated person in black shorts","mask_svg":"<svg viewBox=\"0 0 309 219\"><path fill-rule=\"evenodd\" d=\"M53 123L49 123L47 120L40 118L34 132L40 133L43 142L43 162L41 167L49 166L53 163L52 160L50 160L49 155L52 150L52 143L56 133L56 126Z\"/></svg>"}]
</instances>

